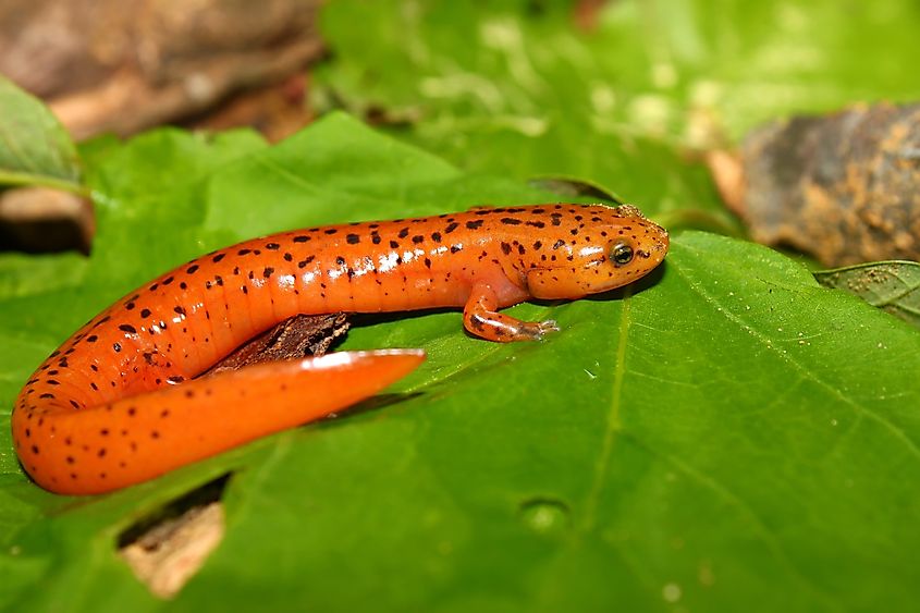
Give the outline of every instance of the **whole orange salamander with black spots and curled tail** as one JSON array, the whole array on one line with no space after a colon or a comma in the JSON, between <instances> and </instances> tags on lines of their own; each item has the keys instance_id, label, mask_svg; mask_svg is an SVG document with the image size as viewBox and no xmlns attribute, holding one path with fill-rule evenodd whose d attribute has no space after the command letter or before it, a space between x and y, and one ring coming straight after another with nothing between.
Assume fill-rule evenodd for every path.
<instances>
[{"instance_id":1,"label":"whole orange salamander with black spots and curled tail","mask_svg":"<svg viewBox=\"0 0 920 613\"><path fill-rule=\"evenodd\" d=\"M419 351L331 354L195 380L297 314L464 307L474 335L540 339L498 309L639 279L667 233L635 207L482 208L284 232L203 256L93 318L36 370L12 415L22 465L59 493L115 490L353 404Z\"/></svg>"}]
</instances>

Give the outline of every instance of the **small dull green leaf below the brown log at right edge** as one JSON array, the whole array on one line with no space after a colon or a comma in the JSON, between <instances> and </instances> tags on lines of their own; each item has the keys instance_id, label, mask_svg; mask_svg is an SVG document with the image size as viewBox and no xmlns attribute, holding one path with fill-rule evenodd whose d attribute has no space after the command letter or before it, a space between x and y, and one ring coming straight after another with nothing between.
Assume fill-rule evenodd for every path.
<instances>
[{"instance_id":1,"label":"small dull green leaf below the brown log at right edge","mask_svg":"<svg viewBox=\"0 0 920 613\"><path fill-rule=\"evenodd\" d=\"M814 278L825 287L849 292L920 328L920 263L916 261L875 261L818 270Z\"/></svg>"}]
</instances>

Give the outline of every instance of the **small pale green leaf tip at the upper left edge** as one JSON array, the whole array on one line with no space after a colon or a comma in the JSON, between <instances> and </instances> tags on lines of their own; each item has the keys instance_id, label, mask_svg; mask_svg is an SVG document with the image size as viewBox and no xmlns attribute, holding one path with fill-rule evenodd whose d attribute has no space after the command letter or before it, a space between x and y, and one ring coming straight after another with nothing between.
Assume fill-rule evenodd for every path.
<instances>
[{"instance_id":1,"label":"small pale green leaf tip at the upper left edge","mask_svg":"<svg viewBox=\"0 0 920 613\"><path fill-rule=\"evenodd\" d=\"M0 184L83 192L70 135L40 100L0 75Z\"/></svg>"}]
</instances>

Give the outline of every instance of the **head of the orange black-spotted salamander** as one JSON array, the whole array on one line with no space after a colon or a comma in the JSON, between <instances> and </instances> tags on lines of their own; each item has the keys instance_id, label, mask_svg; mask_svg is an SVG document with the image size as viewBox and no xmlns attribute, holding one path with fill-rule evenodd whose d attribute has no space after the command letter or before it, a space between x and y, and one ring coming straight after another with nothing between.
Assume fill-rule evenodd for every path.
<instances>
[{"instance_id":1,"label":"head of the orange black-spotted salamander","mask_svg":"<svg viewBox=\"0 0 920 613\"><path fill-rule=\"evenodd\" d=\"M578 298L626 285L667 254L667 231L629 205L562 205L548 214L549 241L527 252L520 270L536 298Z\"/></svg>"}]
</instances>

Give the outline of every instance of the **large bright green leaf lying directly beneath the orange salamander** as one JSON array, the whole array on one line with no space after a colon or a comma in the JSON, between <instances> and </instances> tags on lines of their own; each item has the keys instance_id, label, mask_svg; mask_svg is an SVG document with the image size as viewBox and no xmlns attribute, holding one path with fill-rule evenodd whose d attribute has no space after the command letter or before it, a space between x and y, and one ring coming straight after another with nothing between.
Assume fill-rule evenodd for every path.
<instances>
[{"instance_id":1,"label":"large bright green leaf lying directly beneath the orange salamander","mask_svg":"<svg viewBox=\"0 0 920 613\"><path fill-rule=\"evenodd\" d=\"M105 222L88 262L58 262L47 290L0 283L3 353L16 355L0 363L3 406L99 308L219 244L552 198L338 114L274 147L155 132L98 164ZM60 281L68 267L77 283ZM913 606L919 332L775 252L689 232L637 286L511 312L562 331L498 345L467 336L456 311L367 318L344 348L429 353L391 403L107 496L36 488L0 424L0 608ZM225 539L163 604L115 537L228 471Z\"/></svg>"}]
</instances>

